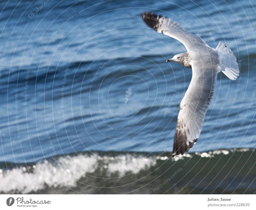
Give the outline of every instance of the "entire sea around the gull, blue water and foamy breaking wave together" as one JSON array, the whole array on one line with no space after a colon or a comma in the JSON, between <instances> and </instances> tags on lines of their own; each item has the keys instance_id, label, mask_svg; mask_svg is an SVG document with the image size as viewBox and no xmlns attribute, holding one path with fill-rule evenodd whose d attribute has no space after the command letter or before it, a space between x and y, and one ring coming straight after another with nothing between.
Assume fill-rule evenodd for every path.
<instances>
[{"instance_id":1,"label":"entire sea around the gull, blue water and foamy breaking wave together","mask_svg":"<svg viewBox=\"0 0 256 210\"><path fill-rule=\"evenodd\" d=\"M1 193L255 193L255 2L0 4ZM165 61L186 49L142 11L237 57L185 157L171 152L192 72Z\"/></svg>"}]
</instances>

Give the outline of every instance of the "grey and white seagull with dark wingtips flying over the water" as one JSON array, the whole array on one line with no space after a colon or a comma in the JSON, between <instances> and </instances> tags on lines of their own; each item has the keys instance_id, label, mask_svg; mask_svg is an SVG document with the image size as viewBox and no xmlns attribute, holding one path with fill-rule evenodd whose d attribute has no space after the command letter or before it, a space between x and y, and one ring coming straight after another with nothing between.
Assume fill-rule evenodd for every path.
<instances>
[{"instance_id":1,"label":"grey and white seagull with dark wingtips flying over the water","mask_svg":"<svg viewBox=\"0 0 256 210\"><path fill-rule=\"evenodd\" d=\"M180 41L187 49L187 52L177 54L166 61L175 61L192 68L191 82L180 102L172 156L184 154L196 144L200 135L205 113L214 92L217 74L222 71L232 80L239 75L236 57L222 41L216 49L211 48L202 38L188 33L172 19L149 12L143 12L142 17L148 26L158 33Z\"/></svg>"}]
</instances>

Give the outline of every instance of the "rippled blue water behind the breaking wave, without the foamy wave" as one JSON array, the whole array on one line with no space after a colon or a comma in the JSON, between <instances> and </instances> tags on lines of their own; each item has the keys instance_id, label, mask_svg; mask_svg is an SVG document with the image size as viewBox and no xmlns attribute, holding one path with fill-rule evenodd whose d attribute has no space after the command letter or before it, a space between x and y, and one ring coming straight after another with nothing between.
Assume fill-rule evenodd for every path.
<instances>
[{"instance_id":1,"label":"rippled blue water behind the breaking wave, without the foamy wave","mask_svg":"<svg viewBox=\"0 0 256 210\"><path fill-rule=\"evenodd\" d=\"M186 49L146 26L142 11L166 15L188 31L189 23L210 47L225 42L239 61L236 81L219 73L189 152L256 147L255 2L0 4L2 164L81 152L172 151L192 72L165 62Z\"/></svg>"}]
</instances>

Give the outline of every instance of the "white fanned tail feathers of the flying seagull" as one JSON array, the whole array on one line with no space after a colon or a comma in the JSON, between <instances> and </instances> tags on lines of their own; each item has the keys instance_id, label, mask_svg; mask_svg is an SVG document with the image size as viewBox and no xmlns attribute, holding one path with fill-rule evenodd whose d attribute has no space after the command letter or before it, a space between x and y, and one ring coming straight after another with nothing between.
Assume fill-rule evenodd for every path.
<instances>
[{"instance_id":1,"label":"white fanned tail feathers of the flying seagull","mask_svg":"<svg viewBox=\"0 0 256 210\"><path fill-rule=\"evenodd\" d=\"M229 79L235 80L239 75L239 68L232 50L222 41L219 42L216 50L219 55L220 71Z\"/></svg>"}]
</instances>

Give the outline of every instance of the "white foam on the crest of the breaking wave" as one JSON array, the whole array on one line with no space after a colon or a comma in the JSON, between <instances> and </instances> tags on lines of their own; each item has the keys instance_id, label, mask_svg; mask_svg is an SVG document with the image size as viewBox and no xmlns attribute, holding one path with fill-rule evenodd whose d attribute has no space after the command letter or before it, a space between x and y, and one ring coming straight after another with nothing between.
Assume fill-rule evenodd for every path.
<instances>
[{"instance_id":1,"label":"white foam on the crest of the breaking wave","mask_svg":"<svg viewBox=\"0 0 256 210\"><path fill-rule=\"evenodd\" d=\"M153 161L152 161L153 160ZM1 193L38 192L46 186L75 187L77 181L93 173L96 169L106 170L107 174L118 172L123 176L126 172L137 173L145 165L155 165L153 157L143 155L118 155L108 157L93 154L62 156L54 161L41 161L35 165L20 166L13 169L0 169Z\"/></svg>"}]
</instances>

